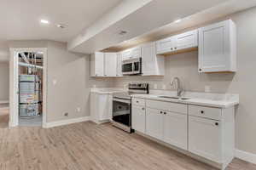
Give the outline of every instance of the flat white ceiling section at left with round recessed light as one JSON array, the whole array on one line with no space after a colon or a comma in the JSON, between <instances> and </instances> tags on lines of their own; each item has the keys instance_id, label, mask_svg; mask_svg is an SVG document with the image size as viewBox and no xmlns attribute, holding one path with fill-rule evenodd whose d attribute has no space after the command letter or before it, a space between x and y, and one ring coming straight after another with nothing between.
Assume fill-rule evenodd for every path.
<instances>
[{"instance_id":1,"label":"flat white ceiling section at left with round recessed light","mask_svg":"<svg viewBox=\"0 0 256 170\"><path fill-rule=\"evenodd\" d=\"M122 0L1 0L0 40L67 42ZM39 20L49 20L42 25ZM61 29L56 24L67 25Z\"/></svg>"}]
</instances>

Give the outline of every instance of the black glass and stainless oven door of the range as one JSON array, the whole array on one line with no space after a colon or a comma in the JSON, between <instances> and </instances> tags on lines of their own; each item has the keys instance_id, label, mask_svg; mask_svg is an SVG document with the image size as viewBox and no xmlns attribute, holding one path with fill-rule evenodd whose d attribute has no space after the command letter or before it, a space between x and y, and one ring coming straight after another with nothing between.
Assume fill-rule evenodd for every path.
<instances>
[{"instance_id":1,"label":"black glass and stainless oven door of the range","mask_svg":"<svg viewBox=\"0 0 256 170\"><path fill-rule=\"evenodd\" d=\"M121 127L131 127L131 99L113 98L112 120Z\"/></svg>"}]
</instances>

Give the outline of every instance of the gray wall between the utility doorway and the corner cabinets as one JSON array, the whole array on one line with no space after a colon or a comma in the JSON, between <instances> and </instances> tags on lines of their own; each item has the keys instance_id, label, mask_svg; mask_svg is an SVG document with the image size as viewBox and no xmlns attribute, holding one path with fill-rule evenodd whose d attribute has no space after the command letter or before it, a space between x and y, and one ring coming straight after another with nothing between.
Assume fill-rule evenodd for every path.
<instances>
[{"instance_id":1,"label":"gray wall between the utility doorway and the corner cabinets","mask_svg":"<svg viewBox=\"0 0 256 170\"><path fill-rule=\"evenodd\" d=\"M90 115L90 88L113 87L108 79L93 79L90 58L67 51L67 44L53 41L12 41L10 48L48 48L47 122ZM53 80L57 83L54 85ZM81 111L77 112L77 108ZM68 112L69 116L64 116Z\"/></svg>"}]
</instances>

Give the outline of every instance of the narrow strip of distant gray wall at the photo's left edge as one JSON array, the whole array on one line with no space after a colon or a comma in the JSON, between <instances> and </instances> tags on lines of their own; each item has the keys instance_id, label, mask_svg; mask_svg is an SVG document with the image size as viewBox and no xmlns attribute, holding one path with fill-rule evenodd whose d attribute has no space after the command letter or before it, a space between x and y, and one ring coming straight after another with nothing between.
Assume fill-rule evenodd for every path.
<instances>
[{"instance_id":1,"label":"narrow strip of distant gray wall at the photo's left edge","mask_svg":"<svg viewBox=\"0 0 256 170\"><path fill-rule=\"evenodd\" d=\"M9 99L9 62L0 62L0 100Z\"/></svg>"}]
</instances>

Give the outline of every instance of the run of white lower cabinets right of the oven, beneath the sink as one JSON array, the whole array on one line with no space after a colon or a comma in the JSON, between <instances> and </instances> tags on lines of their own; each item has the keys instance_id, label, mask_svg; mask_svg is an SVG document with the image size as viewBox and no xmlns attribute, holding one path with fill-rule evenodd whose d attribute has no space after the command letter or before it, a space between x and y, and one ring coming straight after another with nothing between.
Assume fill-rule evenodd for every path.
<instances>
[{"instance_id":1,"label":"run of white lower cabinets right of the oven, beneath the sink","mask_svg":"<svg viewBox=\"0 0 256 170\"><path fill-rule=\"evenodd\" d=\"M234 158L234 106L214 108L136 98L132 101L132 127L137 131L205 158L201 161L212 161L211 165L223 170Z\"/></svg>"}]
</instances>

